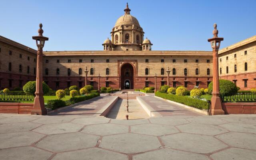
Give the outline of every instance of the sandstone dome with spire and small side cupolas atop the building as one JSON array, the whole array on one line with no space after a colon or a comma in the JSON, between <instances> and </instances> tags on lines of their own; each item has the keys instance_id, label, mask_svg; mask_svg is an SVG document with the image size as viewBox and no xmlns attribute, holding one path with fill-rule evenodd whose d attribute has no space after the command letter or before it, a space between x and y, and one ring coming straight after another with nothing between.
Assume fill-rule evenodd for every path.
<instances>
[{"instance_id":1,"label":"sandstone dome with spire and small side cupolas atop the building","mask_svg":"<svg viewBox=\"0 0 256 160\"><path fill-rule=\"evenodd\" d=\"M111 40L107 39L102 44L104 50L151 50L150 40L144 40L143 29L130 11L127 3L124 15L118 18L110 32Z\"/></svg>"}]
</instances>

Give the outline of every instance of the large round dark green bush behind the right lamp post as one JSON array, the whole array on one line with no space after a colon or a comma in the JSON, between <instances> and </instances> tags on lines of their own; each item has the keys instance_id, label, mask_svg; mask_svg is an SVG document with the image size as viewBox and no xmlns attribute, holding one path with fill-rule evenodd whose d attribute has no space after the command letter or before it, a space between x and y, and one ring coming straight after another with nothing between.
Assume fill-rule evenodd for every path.
<instances>
[{"instance_id":1,"label":"large round dark green bush behind the right lamp post","mask_svg":"<svg viewBox=\"0 0 256 160\"><path fill-rule=\"evenodd\" d=\"M237 93L236 85L229 80L219 80L220 94L222 96L231 96ZM212 82L210 82L209 93L212 94Z\"/></svg>"}]
</instances>

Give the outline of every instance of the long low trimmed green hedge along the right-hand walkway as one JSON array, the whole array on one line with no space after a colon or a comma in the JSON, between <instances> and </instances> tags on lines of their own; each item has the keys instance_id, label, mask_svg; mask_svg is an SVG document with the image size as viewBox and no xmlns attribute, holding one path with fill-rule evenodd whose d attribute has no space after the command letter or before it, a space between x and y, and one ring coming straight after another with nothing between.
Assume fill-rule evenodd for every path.
<instances>
[{"instance_id":1,"label":"long low trimmed green hedge along the right-hand walkway","mask_svg":"<svg viewBox=\"0 0 256 160\"><path fill-rule=\"evenodd\" d=\"M208 109L208 102L203 101L203 100L198 100L198 99L190 98L187 96L177 96L174 94L166 94L166 93L160 93L160 92L156 92L155 95L158 97L167 99L167 100L172 100L174 102L185 104L187 106L191 106L191 107L198 108L201 110Z\"/></svg>"}]
</instances>

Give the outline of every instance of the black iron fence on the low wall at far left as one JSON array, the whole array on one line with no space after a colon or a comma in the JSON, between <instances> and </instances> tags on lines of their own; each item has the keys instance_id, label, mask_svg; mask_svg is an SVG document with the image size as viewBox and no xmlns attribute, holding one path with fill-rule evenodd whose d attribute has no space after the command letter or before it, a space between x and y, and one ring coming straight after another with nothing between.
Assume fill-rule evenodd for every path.
<instances>
[{"instance_id":1,"label":"black iron fence on the low wall at far left","mask_svg":"<svg viewBox=\"0 0 256 160\"><path fill-rule=\"evenodd\" d=\"M0 102L34 102L33 94L24 92L0 93Z\"/></svg>"}]
</instances>

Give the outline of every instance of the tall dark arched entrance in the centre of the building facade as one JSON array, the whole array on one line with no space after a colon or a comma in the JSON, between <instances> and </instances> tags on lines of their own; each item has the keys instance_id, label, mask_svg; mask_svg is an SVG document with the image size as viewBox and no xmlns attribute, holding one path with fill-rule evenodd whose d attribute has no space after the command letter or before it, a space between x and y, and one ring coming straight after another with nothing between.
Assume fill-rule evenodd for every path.
<instances>
[{"instance_id":1,"label":"tall dark arched entrance in the centre of the building facade","mask_svg":"<svg viewBox=\"0 0 256 160\"><path fill-rule=\"evenodd\" d=\"M134 87L134 68L132 64L126 63L121 66L121 88L133 89Z\"/></svg>"}]
</instances>

